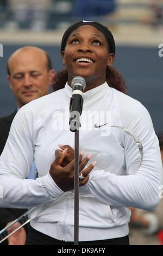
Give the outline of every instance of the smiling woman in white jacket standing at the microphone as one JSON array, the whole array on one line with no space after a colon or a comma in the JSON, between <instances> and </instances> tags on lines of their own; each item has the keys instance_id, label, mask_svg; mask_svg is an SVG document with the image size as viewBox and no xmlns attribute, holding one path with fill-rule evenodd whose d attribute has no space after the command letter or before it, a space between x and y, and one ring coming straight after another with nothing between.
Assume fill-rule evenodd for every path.
<instances>
[{"instance_id":1,"label":"smiling woman in white jacket standing at the microphone","mask_svg":"<svg viewBox=\"0 0 163 256\"><path fill-rule=\"evenodd\" d=\"M0 159L0 205L31 208L62 196L30 222L26 245L73 244L74 133L68 120L71 81L82 76L79 245L129 245L127 207L153 210L160 202L162 163L151 118L111 72L115 43L106 27L90 21L72 25L62 38L61 55L66 72L57 75L54 89L60 89L58 77L67 79L64 88L22 107L12 123ZM117 77L109 79L109 72ZM140 139L140 167L135 142L115 126ZM64 151L55 157L59 144L68 146L60 146ZM33 160L39 178L26 180Z\"/></svg>"}]
</instances>

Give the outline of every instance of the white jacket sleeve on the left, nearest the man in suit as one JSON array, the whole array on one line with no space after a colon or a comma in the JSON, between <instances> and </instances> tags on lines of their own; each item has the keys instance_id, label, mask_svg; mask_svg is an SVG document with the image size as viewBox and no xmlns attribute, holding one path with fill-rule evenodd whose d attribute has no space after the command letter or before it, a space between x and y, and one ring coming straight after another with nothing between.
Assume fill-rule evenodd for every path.
<instances>
[{"instance_id":1,"label":"white jacket sleeve on the left, nearest the man in suit","mask_svg":"<svg viewBox=\"0 0 163 256\"><path fill-rule=\"evenodd\" d=\"M0 157L0 207L30 208L51 202L62 193L51 175L26 179L34 160L32 114L28 106L18 111Z\"/></svg>"}]
</instances>

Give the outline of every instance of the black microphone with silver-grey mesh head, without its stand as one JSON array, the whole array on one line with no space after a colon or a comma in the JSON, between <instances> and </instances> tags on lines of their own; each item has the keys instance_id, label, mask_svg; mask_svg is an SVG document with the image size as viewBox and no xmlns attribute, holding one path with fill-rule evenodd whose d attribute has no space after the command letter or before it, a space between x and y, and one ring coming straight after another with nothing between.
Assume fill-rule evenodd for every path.
<instances>
[{"instance_id":1,"label":"black microphone with silver-grey mesh head, without its stand","mask_svg":"<svg viewBox=\"0 0 163 256\"><path fill-rule=\"evenodd\" d=\"M83 77L76 76L71 81L72 97L70 99L70 131L75 132L80 127L79 118L83 110L83 91L86 82Z\"/></svg>"}]
</instances>

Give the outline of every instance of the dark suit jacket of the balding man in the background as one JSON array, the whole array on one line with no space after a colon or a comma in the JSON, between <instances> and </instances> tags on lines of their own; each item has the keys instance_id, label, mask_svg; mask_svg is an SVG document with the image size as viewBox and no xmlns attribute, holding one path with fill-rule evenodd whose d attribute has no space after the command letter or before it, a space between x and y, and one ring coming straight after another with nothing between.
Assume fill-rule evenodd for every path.
<instances>
[{"instance_id":1,"label":"dark suit jacket of the balding man in the background","mask_svg":"<svg viewBox=\"0 0 163 256\"><path fill-rule=\"evenodd\" d=\"M16 112L17 111L14 111L7 117L0 117L0 155L2 154L5 143L7 141L10 126L16 115ZM26 211L27 209L0 208L0 231L8 222L16 220L16 218L20 217ZM1 243L1 245L2 244L7 244L7 240Z\"/></svg>"}]
</instances>

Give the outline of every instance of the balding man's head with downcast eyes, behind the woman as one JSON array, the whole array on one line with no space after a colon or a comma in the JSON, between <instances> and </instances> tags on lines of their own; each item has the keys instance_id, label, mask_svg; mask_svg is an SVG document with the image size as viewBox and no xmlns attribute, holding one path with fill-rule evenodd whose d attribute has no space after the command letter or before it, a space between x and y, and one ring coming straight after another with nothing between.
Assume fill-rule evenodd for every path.
<instances>
[{"instance_id":1,"label":"balding man's head with downcast eyes, behind the woman","mask_svg":"<svg viewBox=\"0 0 163 256\"><path fill-rule=\"evenodd\" d=\"M8 60L8 80L18 107L49 93L54 70L48 53L39 47L25 46Z\"/></svg>"}]
</instances>

